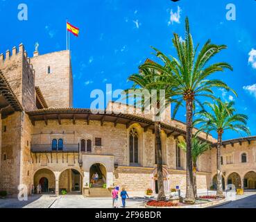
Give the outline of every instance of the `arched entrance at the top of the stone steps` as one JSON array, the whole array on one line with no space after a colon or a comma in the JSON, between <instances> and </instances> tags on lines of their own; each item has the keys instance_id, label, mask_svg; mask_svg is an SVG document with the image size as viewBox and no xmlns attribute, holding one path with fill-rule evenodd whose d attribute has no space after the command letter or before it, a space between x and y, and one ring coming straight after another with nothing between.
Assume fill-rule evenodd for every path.
<instances>
[{"instance_id":1,"label":"arched entrance at the top of the stone steps","mask_svg":"<svg viewBox=\"0 0 256 222\"><path fill-rule=\"evenodd\" d=\"M96 180L96 178L98 178ZM107 170L105 166L100 163L92 164L89 169L89 182L90 187L106 188Z\"/></svg>"}]
</instances>

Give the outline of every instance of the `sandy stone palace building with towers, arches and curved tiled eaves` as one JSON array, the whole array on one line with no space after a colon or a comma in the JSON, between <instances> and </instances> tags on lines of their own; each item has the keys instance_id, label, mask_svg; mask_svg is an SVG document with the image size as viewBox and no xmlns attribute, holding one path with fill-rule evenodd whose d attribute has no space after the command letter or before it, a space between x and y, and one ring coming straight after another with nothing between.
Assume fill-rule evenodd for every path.
<instances>
[{"instance_id":1,"label":"sandy stone palace building with towers, arches and curved tiled eaves","mask_svg":"<svg viewBox=\"0 0 256 222\"><path fill-rule=\"evenodd\" d=\"M69 51L28 58L23 44L0 55L0 190L16 195L19 185L41 185L45 193L78 192L108 196L118 185L129 193L157 193L154 123L146 114L128 114L123 103L105 112L72 108ZM108 110L121 110L107 112ZM177 140L185 123L162 121L164 189L185 191L185 153ZM195 129L196 130L196 129ZM198 160L198 189L216 187L216 139L200 134L212 148ZM223 142L223 186L256 189L256 137ZM99 181L92 185L92 175Z\"/></svg>"}]
</instances>

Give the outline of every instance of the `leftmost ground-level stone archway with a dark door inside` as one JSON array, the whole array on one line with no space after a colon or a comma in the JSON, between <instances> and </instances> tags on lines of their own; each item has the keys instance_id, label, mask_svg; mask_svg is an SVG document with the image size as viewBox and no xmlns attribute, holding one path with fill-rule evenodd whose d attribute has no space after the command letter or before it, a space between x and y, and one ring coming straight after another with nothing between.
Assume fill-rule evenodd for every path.
<instances>
[{"instance_id":1,"label":"leftmost ground-level stone archway with a dark door inside","mask_svg":"<svg viewBox=\"0 0 256 222\"><path fill-rule=\"evenodd\" d=\"M37 186L41 185L42 194L54 194L56 187L56 178L53 171L49 169L40 169L34 174L34 187L37 193Z\"/></svg>"}]
</instances>

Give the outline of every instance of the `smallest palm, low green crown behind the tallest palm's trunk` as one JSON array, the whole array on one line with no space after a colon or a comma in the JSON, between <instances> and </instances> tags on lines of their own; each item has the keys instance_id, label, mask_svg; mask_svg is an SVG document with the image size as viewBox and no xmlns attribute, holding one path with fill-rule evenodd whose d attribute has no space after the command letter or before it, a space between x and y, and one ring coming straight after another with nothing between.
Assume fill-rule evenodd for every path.
<instances>
[{"instance_id":1,"label":"smallest palm, low green crown behind the tallest palm's trunk","mask_svg":"<svg viewBox=\"0 0 256 222\"><path fill-rule=\"evenodd\" d=\"M187 144L185 140L180 140L178 146L182 148L183 151L187 152ZM200 155L205 153L205 151L209 150L210 145L207 142L201 142L197 137L193 137L192 139L192 160L193 160L193 191L195 198L197 196L197 187L196 187L196 169L197 165L196 162Z\"/></svg>"}]
</instances>

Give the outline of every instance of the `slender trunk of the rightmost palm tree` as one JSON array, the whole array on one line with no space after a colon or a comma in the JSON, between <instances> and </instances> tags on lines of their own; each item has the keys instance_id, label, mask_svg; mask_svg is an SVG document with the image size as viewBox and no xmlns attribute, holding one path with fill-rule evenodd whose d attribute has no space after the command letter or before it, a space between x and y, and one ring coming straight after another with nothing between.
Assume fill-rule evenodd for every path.
<instances>
[{"instance_id":1,"label":"slender trunk of the rightmost palm tree","mask_svg":"<svg viewBox=\"0 0 256 222\"><path fill-rule=\"evenodd\" d=\"M216 155L216 165L217 165L217 196L223 196L222 187L222 172L221 172L221 143L222 143L222 133L218 133L218 144L217 144L217 155Z\"/></svg>"}]
</instances>

